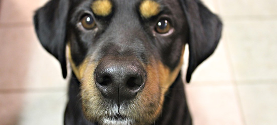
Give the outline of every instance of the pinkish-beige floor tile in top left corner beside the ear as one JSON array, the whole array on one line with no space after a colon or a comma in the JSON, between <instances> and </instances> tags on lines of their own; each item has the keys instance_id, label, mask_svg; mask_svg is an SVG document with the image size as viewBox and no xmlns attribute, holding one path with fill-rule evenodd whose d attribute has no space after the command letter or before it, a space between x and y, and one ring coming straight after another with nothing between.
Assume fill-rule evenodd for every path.
<instances>
[{"instance_id":1,"label":"pinkish-beige floor tile in top left corner beside the ear","mask_svg":"<svg viewBox=\"0 0 277 125\"><path fill-rule=\"evenodd\" d=\"M2 0L1 23L32 22L33 14L47 0Z\"/></svg>"}]
</instances>

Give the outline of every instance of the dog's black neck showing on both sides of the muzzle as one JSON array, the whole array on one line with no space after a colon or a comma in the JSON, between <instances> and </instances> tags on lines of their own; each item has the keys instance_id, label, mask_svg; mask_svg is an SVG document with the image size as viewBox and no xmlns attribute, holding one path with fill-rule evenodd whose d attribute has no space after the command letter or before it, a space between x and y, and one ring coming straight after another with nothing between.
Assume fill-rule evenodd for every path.
<instances>
[{"instance_id":1,"label":"dog's black neck showing on both sides of the muzzle","mask_svg":"<svg viewBox=\"0 0 277 125\"><path fill-rule=\"evenodd\" d=\"M70 81L69 91L70 99L65 109L64 124L97 124L88 121L83 114L80 82L74 73ZM165 95L162 113L154 124L191 124L191 117L187 107L184 85L180 73Z\"/></svg>"}]
</instances>

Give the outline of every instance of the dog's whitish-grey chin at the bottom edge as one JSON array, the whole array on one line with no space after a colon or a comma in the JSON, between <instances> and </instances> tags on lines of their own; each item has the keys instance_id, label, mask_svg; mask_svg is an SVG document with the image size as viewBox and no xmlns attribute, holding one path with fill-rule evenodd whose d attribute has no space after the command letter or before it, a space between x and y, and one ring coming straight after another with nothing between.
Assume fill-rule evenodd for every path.
<instances>
[{"instance_id":1,"label":"dog's whitish-grey chin at the bottom edge","mask_svg":"<svg viewBox=\"0 0 277 125\"><path fill-rule=\"evenodd\" d=\"M99 124L134 124L134 119L129 117L124 117L121 115L115 115L115 116L106 116L102 117L102 119L99 121Z\"/></svg>"}]
</instances>

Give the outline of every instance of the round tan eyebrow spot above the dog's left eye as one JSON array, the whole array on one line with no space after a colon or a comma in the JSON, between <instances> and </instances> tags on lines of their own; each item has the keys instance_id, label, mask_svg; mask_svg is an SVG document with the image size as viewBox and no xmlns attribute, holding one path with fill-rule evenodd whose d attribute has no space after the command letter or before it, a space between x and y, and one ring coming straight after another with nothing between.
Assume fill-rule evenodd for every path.
<instances>
[{"instance_id":1,"label":"round tan eyebrow spot above the dog's left eye","mask_svg":"<svg viewBox=\"0 0 277 125\"><path fill-rule=\"evenodd\" d=\"M91 5L92 11L100 16L107 16L112 12L112 2L110 0L96 0Z\"/></svg>"}]
</instances>

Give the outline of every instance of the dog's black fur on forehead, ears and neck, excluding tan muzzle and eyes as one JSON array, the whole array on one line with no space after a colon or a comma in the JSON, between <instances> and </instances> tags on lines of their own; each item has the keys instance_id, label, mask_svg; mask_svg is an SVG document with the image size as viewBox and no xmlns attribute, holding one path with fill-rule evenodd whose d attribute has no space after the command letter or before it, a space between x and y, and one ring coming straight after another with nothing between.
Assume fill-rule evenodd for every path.
<instances>
[{"instance_id":1,"label":"dog's black fur on forehead, ears and neck, excluding tan muzzle and eyes","mask_svg":"<svg viewBox=\"0 0 277 125\"><path fill-rule=\"evenodd\" d=\"M219 17L200 0L159 0L163 4L162 11L149 19L139 14L137 6L141 0L112 0L113 11L106 17L93 15L90 8L92 1L50 0L35 13L38 38L42 46L59 60L64 78L67 73L67 42L71 44L72 59L77 66L86 56L97 53L96 62L105 56L116 55L122 58L132 56L148 64L154 56L171 70L182 58L182 46L188 43L186 81L189 82L192 72L214 52L221 37L222 23ZM94 16L97 31L84 31L78 27L77 23L85 13ZM161 17L169 19L177 33L154 36L154 26ZM169 88L162 114L155 124L192 124L180 75ZM80 81L74 73L68 93L64 123L98 124L91 123L83 114Z\"/></svg>"}]
</instances>

